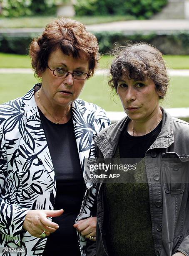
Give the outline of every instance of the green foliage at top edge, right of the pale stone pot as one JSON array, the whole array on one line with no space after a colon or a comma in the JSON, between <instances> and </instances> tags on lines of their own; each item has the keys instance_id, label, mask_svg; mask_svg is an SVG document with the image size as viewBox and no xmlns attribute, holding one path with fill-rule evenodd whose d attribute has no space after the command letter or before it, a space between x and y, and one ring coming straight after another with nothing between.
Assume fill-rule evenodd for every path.
<instances>
[{"instance_id":1,"label":"green foliage at top edge, right of the pale stone pot","mask_svg":"<svg viewBox=\"0 0 189 256\"><path fill-rule=\"evenodd\" d=\"M167 0L77 0L77 15L131 15L148 19L159 12Z\"/></svg>"}]
</instances>

